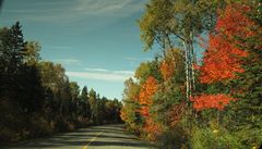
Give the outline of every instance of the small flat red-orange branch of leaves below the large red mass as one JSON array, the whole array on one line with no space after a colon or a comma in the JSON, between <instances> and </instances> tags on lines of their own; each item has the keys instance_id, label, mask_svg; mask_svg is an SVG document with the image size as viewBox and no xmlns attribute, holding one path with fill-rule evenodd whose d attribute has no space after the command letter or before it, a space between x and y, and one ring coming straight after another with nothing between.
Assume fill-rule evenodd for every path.
<instances>
[{"instance_id":1,"label":"small flat red-orange branch of leaves below the large red mass","mask_svg":"<svg viewBox=\"0 0 262 149\"><path fill-rule=\"evenodd\" d=\"M196 97L191 97L190 100L193 102L193 108L196 111L204 109L218 109L223 110L230 101L235 101L235 98L231 98L227 95L217 94L217 95L200 95Z\"/></svg>"}]
</instances>

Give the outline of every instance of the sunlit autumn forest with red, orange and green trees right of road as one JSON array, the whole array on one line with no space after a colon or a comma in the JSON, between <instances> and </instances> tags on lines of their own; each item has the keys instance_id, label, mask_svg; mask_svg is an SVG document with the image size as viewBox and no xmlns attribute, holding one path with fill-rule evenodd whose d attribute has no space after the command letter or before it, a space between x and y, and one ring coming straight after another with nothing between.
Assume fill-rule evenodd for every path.
<instances>
[{"instance_id":1,"label":"sunlit autumn forest with red, orange and green trees right of road","mask_svg":"<svg viewBox=\"0 0 262 149\"><path fill-rule=\"evenodd\" d=\"M160 54L124 83L126 128L162 149L259 149L261 23L260 0L150 0L141 39Z\"/></svg>"}]
</instances>

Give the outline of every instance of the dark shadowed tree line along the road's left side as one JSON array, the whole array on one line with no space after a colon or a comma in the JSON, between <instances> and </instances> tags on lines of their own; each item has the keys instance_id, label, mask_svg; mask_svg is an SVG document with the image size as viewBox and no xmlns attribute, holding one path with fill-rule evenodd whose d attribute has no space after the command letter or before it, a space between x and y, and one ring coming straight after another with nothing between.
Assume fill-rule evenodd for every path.
<instances>
[{"instance_id":1,"label":"dark shadowed tree line along the road's left side","mask_svg":"<svg viewBox=\"0 0 262 149\"><path fill-rule=\"evenodd\" d=\"M121 122L120 101L80 91L61 64L40 60L40 49L19 22L0 28L0 142Z\"/></svg>"}]
</instances>

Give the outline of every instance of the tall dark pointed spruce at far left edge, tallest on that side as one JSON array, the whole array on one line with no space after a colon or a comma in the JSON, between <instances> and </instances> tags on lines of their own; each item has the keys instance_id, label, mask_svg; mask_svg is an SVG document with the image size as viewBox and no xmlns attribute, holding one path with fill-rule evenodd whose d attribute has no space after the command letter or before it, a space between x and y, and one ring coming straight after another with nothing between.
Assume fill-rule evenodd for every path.
<instances>
[{"instance_id":1,"label":"tall dark pointed spruce at far left edge, tallest on that side","mask_svg":"<svg viewBox=\"0 0 262 149\"><path fill-rule=\"evenodd\" d=\"M0 30L0 95L14 95L17 88L19 70L23 65L25 42L21 25L16 22L11 28ZM12 98L15 99L15 98Z\"/></svg>"}]
</instances>

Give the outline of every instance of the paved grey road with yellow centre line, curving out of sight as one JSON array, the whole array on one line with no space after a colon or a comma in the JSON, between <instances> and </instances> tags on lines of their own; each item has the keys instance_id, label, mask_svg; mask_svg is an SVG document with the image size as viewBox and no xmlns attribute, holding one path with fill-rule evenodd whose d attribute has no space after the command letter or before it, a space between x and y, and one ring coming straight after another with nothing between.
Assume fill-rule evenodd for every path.
<instances>
[{"instance_id":1,"label":"paved grey road with yellow centre line, curving out of sight","mask_svg":"<svg viewBox=\"0 0 262 149\"><path fill-rule=\"evenodd\" d=\"M81 128L73 133L34 139L1 149L154 149L155 147L123 129L123 125Z\"/></svg>"}]
</instances>

